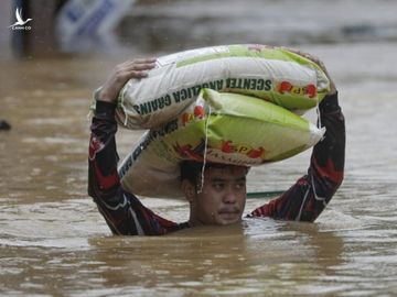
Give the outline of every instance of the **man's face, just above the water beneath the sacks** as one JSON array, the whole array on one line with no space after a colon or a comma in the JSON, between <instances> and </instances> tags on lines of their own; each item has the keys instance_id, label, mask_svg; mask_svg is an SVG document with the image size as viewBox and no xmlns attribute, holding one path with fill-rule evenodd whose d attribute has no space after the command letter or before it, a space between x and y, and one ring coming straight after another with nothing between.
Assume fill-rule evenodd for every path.
<instances>
[{"instance_id":1,"label":"man's face, just above the water beneath the sacks","mask_svg":"<svg viewBox=\"0 0 397 297\"><path fill-rule=\"evenodd\" d=\"M243 166L210 167L204 185L194 187L191 202L191 223L230 224L242 220L246 201L246 174Z\"/></svg>"}]
</instances>

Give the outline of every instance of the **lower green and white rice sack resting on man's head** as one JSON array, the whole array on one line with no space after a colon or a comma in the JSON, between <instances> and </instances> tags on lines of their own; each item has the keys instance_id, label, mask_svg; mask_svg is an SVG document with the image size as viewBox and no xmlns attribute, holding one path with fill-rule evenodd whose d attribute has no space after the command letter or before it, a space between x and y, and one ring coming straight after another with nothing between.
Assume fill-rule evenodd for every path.
<instances>
[{"instance_id":1,"label":"lower green and white rice sack resting on man's head","mask_svg":"<svg viewBox=\"0 0 397 297\"><path fill-rule=\"evenodd\" d=\"M136 195L182 197L183 160L256 166L313 146L324 131L271 102L202 89L178 118L149 130L119 167Z\"/></svg>"}]
</instances>

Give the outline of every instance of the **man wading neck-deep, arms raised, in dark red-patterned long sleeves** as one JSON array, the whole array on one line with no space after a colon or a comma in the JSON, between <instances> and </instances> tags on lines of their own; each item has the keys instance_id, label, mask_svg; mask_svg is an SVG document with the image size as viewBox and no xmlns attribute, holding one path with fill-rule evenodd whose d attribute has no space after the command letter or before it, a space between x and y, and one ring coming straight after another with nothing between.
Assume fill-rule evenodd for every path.
<instances>
[{"instance_id":1,"label":"man wading neck-deep, arms raised, in dark red-patterned long sleeves","mask_svg":"<svg viewBox=\"0 0 397 297\"><path fill-rule=\"evenodd\" d=\"M325 67L314 57L298 52ZM146 208L120 186L117 174L115 108L118 92L130 78L144 78L155 59L129 61L118 65L96 94L96 112L89 143L89 186L99 211L115 234L160 235L202 224L230 224L242 220L246 201L247 167L207 164L181 164L181 187L190 204L187 222L165 220ZM345 129L337 103L337 91L331 91L320 103L324 139L313 147L308 174L280 197L255 209L248 217L314 221L343 180ZM139 180L136 180L139 183Z\"/></svg>"}]
</instances>

